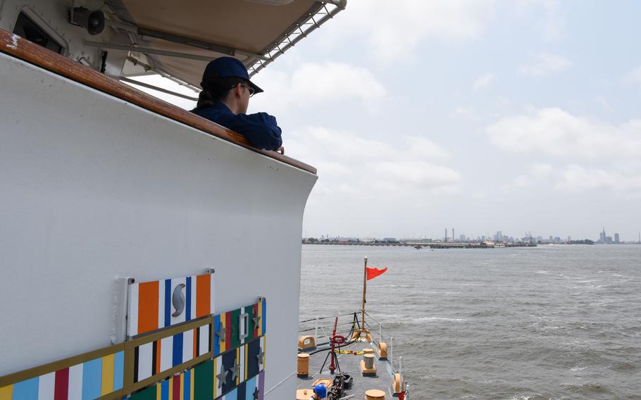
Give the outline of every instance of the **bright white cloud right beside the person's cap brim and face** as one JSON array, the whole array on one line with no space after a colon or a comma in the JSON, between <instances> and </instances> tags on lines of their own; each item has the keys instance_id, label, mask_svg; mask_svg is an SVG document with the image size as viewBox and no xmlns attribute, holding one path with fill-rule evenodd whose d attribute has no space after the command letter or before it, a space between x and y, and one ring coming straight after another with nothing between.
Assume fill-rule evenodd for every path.
<instances>
[{"instance_id":1,"label":"bright white cloud right beside the person's cap brim and face","mask_svg":"<svg viewBox=\"0 0 641 400\"><path fill-rule=\"evenodd\" d=\"M370 70L347 63L302 63L291 73L265 70L252 78L265 93L252 97L252 109L309 108L336 101L359 101L375 109L387 93Z\"/></svg>"}]
</instances>

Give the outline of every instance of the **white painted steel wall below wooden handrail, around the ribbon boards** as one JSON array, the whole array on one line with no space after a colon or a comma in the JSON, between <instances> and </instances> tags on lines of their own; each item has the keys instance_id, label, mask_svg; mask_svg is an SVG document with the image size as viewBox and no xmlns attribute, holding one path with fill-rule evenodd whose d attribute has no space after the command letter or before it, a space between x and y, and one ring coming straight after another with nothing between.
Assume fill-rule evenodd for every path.
<instances>
[{"instance_id":1,"label":"white painted steel wall below wooden handrail, around the ribbon boards","mask_svg":"<svg viewBox=\"0 0 641 400\"><path fill-rule=\"evenodd\" d=\"M116 278L215 268L216 312L268 299L290 398L316 175L5 54L0 82L0 376L110 345Z\"/></svg>"}]
</instances>

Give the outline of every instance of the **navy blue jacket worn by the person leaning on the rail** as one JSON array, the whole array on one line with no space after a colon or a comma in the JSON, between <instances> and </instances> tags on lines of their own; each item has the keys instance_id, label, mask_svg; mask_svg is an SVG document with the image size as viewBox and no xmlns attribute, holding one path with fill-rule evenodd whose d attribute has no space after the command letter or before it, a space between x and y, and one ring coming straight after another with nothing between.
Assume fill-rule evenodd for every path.
<instances>
[{"instance_id":1,"label":"navy blue jacket worn by the person leaning on the rail","mask_svg":"<svg viewBox=\"0 0 641 400\"><path fill-rule=\"evenodd\" d=\"M192 113L238 132L259 149L276 150L282 146L280 127L276 125L276 118L268 113L235 114L221 101L196 108Z\"/></svg>"}]
</instances>

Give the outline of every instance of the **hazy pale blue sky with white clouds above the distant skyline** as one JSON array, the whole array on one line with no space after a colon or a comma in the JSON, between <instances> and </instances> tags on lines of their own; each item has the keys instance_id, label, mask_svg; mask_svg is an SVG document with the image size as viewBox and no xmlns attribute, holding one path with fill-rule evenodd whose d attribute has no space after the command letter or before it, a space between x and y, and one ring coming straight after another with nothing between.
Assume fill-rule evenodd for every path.
<instances>
[{"instance_id":1,"label":"hazy pale blue sky with white clouds above the distant skyline","mask_svg":"<svg viewBox=\"0 0 641 400\"><path fill-rule=\"evenodd\" d=\"M252 80L304 237L641 230L640 1L349 0ZM185 108L192 104L174 101Z\"/></svg>"}]
</instances>

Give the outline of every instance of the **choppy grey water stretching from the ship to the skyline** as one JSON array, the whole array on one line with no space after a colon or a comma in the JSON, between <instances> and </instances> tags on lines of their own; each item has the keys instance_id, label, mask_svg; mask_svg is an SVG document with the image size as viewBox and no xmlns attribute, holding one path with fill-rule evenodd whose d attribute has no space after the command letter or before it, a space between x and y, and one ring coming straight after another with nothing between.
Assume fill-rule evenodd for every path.
<instances>
[{"instance_id":1,"label":"choppy grey water stretching from the ship to the skyline","mask_svg":"<svg viewBox=\"0 0 641 400\"><path fill-rule=\"evenodd\" d=\"M359 308L363 256L413 399L641 399L641 246L305 245L301 320Z\"/></svg>"}]
</instances>

